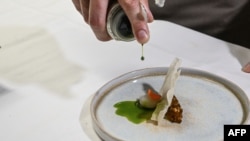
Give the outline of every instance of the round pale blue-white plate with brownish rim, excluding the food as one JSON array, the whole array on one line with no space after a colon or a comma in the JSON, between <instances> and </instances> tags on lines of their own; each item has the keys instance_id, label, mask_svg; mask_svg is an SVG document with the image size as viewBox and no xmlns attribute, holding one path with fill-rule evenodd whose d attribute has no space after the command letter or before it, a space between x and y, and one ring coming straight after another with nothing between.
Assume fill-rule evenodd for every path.
<instances>
[{"instance_id":1,"label":"round pale blue-white plate with brownish rim, excluding the food","mask_svg":"<svg viewBox=\"0 0 250 141\"><path fill-rule=\"evenodd\" d=\"M144 95L143 85L161 88L168 68L147 68L119 76L94 95L91 117L96 133L106 141L118 140L223 140L225 124L245 124L249 117L246 94L232 82L208 72L181 68L175 93L183 109L180 124L160 127L134 124L116 114L114 105Z\"/></svg>"}]
</instances>

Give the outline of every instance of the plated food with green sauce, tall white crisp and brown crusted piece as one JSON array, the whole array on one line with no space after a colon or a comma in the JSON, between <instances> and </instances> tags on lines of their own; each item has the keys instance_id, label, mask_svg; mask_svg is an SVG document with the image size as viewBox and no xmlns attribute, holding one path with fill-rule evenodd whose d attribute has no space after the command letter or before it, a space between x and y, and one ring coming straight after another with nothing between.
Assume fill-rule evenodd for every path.
<instances>
[{"instance_id":1,"label":"plated food with green sauce, tall white crisp and brown crusted piece","mask_svg":"<svg viewBox=\"0 0 250 141\"><path fill-rule=\"evenodd\" d=\"M145 120L159 126L167 126L168 121L181 123L183 109L174 95L175 83L181 72L180 64L178 58L172 62L159 92L147 86L146 93L138 100L116 103L116 114L134 123Z\"/></svg>"}]
</instances>

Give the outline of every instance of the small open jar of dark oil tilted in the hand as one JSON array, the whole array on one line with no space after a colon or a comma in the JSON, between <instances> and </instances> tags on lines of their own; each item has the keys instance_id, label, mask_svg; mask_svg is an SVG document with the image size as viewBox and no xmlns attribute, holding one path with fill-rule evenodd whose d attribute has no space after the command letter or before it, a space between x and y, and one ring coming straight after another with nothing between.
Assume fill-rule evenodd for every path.
<instances>
[{"instance_id":1,"label":"small open jar of dark oil tilted in the hand","mask_svg":"<svg viewBox=\"0 0 250 141\"><path fill-rule=\"evenodd\" d=\"M107 16L107 31L111 38L118 41L135 40L131 24L117 2L112 2Z\"/></svg>"}]
</instances>

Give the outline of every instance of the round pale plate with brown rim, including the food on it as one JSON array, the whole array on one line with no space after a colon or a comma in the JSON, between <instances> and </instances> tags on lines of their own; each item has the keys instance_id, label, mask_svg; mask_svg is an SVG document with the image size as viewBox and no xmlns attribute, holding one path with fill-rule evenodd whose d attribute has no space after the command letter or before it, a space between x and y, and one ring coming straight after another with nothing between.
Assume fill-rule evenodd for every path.
<instances>
[{"instance_id":1,"label":"round pale plate with brown rim, including the food on it","mask_svg":"<svg viewBox=\"0 0 250 141\"><path fill-rule=\"evenodd\" d=\"M108 141L217 141L225 124L248 122L250 103L240 87L180 64L175 59L169 67L128 72L98 89L90 105L97 135Z\"/></svg>"}]
</instances>

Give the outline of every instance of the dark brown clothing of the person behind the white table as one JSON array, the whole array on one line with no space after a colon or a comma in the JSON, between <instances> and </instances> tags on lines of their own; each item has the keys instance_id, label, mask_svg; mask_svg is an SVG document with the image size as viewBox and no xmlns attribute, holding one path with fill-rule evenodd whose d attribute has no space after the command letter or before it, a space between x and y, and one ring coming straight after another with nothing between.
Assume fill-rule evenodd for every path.
<instances>
[{"instance_id":1,"label":"dark brown clothing of the person behind the white table","mask_svg":"<svg viewBox=\"0 0 250 141\"><path fill-rule=\"evenodd\" d=\"M149 4L155 20L167 20L250 48L249 0L166 0L162 8L154 0Z\"/></svg>"}]
</instances>

